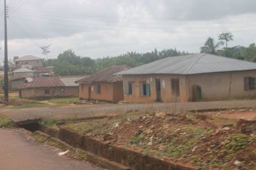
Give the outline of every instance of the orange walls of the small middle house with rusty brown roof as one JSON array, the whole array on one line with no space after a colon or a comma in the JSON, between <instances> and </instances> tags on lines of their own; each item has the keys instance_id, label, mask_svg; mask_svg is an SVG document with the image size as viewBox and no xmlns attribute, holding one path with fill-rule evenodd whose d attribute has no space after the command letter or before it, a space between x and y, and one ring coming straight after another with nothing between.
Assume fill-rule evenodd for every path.
<instances>
[{"instance_id":1,"label":"orange walls of the small middle house with rusty brown roof","mask_svg":"<svg viewBox=\"0 0 256 170\"><path fill-rule=\"evenodd\" d=\"M108 83L100 82L100 94L97 94L97 84L82 84L79 85L79 97L88 100L88 87L91 87L91 100L111 101L118 103L124 100L124 92L122 82ZM113 90L115 89L115 90Z\"/></svg>"}]
</instances>

